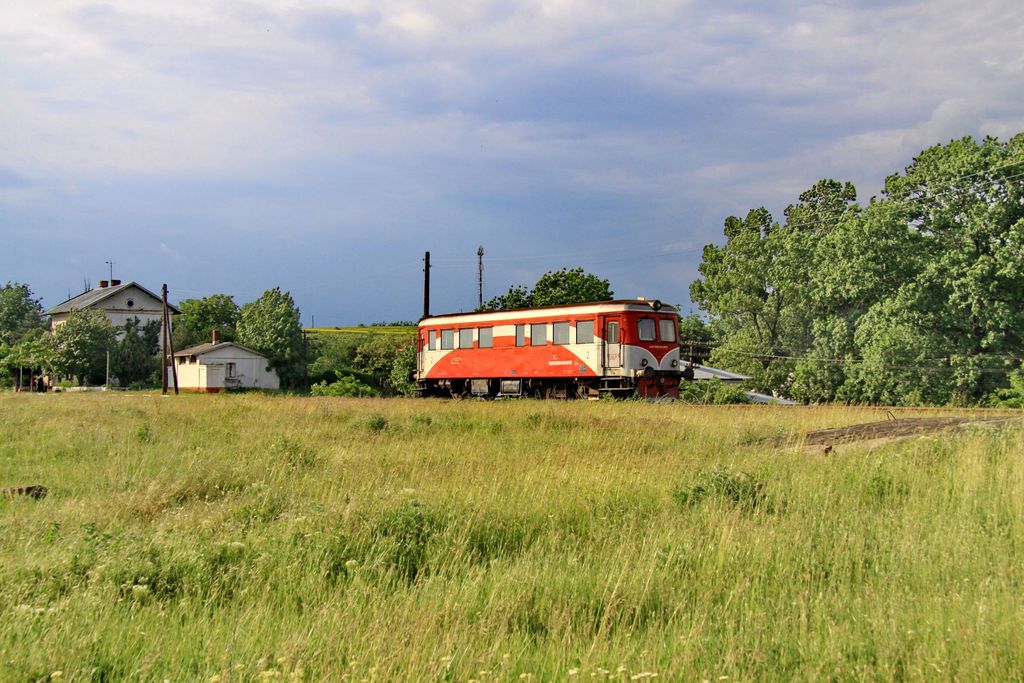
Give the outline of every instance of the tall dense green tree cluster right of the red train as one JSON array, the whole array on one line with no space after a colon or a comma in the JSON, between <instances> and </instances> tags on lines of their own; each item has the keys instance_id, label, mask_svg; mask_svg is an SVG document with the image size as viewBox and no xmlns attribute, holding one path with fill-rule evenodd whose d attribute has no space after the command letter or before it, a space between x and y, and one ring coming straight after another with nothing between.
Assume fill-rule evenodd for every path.
<instances>
[{"instance_id":1,"label":"tall dense green tree cluster right of the red train","mask_svg":"<svg viewBox=\"0 0 1024 683\"><path fill-rule=\"evenodd\" d=\"M808 402L982 404L1021 385L1024 134L925 150L866 204L826 179L781 221L756 208L724 228L684 333L712 365Z\"/></svg>"}]
</instances>

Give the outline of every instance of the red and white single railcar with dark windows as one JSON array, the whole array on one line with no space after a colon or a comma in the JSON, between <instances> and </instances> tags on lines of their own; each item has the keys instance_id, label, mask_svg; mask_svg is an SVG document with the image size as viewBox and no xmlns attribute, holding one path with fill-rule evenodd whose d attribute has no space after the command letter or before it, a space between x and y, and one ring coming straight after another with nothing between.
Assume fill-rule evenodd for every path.
<instances>
[{"instance_id":1,"label":"red and white single railcar with dark windows","mask_svg":"<svg viewBox=\"0 0 1024 683\"><path fill-rule=\"evenodd\" d=\"M423 396L678 397L679 310L658 300L430 315L413 378Z\"/></svg>"}]
</instances>

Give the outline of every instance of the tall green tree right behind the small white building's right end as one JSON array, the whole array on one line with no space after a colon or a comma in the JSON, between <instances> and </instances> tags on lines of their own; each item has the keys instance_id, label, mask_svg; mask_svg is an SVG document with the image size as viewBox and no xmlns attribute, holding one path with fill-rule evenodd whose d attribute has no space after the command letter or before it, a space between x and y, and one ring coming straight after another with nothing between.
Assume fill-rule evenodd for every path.
<instances>
[{"instance_id":1,"label":"tall green tree right behind the small white building's right end","mask_svg":"<svg viewBox=\"0 0 1024 683\"><path fill-rule=\"evenodd\" d=\"M305 377L306 350L292 295L273 288L242 307L236 328L243 346L259 351L283 387L298 387Z\"/></svg>"}]
</instances>

